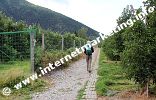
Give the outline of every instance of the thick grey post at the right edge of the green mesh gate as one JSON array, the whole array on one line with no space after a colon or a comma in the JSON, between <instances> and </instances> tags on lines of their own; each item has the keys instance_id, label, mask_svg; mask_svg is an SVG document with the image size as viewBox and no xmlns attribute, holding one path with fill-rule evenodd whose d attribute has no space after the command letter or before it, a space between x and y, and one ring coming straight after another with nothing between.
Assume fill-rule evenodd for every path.
<instances>
[{"instance_id":1,"label":"thick grey post at the right edge of the green mesh gate","mask_svg":"<svg viewBox=\"0 0 156 100\"><path fill-rule=\"evenodd\" d=\"M30 59L31 59L31 71L34 73L34 46L35 46L35 38L34 32L30 33Z\"/></svg>"}]
</instances>

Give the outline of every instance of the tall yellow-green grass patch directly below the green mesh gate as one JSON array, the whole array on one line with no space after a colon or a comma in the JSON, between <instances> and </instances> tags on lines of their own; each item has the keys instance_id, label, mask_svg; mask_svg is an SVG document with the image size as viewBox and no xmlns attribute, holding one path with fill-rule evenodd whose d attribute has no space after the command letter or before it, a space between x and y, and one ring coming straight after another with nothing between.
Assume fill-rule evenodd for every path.
<instances>
[{"instance_id":1,"label":"tall yellow-green grass patch directly below the green mesh gate","mask_svg":"<svg viewBox=\"0 0 156 100\"><path fill-rule=\"evenodd\" d=\"M13 86L30 74L30 61L14 61L0 65L0 87Z\"/></svg>"}]
</instances>

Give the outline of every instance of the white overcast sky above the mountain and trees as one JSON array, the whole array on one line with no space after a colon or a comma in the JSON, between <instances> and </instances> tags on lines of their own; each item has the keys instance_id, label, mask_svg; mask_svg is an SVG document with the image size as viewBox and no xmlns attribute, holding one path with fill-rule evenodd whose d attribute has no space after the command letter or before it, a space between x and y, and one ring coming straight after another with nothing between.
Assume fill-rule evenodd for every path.
<instances>
[{"instance_id":1,"label":"white overcast sky above the mountain and trees","mask_svg":"<svg viewBox=\"0 0 156 100\"><path fill-rule=\"evenodd\" d=\"M112 32L116 19L127 5L143 6L142 0L27 0L71 17L105 34ZM44 20L44 19L43 19Z\"/></svg>"}]
</instances>

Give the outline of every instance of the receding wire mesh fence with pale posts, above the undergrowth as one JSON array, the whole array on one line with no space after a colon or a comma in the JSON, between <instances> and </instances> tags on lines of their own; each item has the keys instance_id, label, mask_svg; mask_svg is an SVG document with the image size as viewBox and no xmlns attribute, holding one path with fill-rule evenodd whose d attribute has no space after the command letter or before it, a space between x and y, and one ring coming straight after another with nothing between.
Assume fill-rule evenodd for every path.
<instances>
[{"instance_id":1,"label":"receding wire mesh fence with pale posts, above the undergrowth","mask_svg":"<svg viewBox=\"0 0 156 100\"><path fill-rule=\"evenodd\" d=\"M66 33L64 35L57 33L42 33L42 47L46 50L67 50L78 48L86 43L85 39L76 37L74 34ZM41 42L40 42L41 44Z\"/></svg>"}]
</instances>

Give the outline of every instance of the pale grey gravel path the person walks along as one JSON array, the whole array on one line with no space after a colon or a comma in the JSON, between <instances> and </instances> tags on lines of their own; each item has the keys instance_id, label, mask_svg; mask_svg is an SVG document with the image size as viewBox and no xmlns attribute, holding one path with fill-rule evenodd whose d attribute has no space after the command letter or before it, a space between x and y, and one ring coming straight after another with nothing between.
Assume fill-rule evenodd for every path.
<instances>
[{"instance_id":1,"label":"pale grey gravel path the person walks along","mask_svg":"<svg viewBox=\"0 0 156 100\"><path fill-rule=\"evenodd\" d=\"M96 61L99 49L93 54L93 67ZM96 67L97 68L97 67ZM95 70L95 68L93 68ZM94 73L94 71L93 71ZM92 74L93 74L92 73ZM33 94L33 100L75 100L77 92L84 87L90 80L90 74L87 72L86 60L81 59L68 68L52 72L49 76L54 85L48 90ZM95 78L94 78L95 81ZM94 82L95 83L95 82ZM93 84L94 85L94 84ZM95 94L95 93L94 93Z\"/></svg>"}]
</instances>

